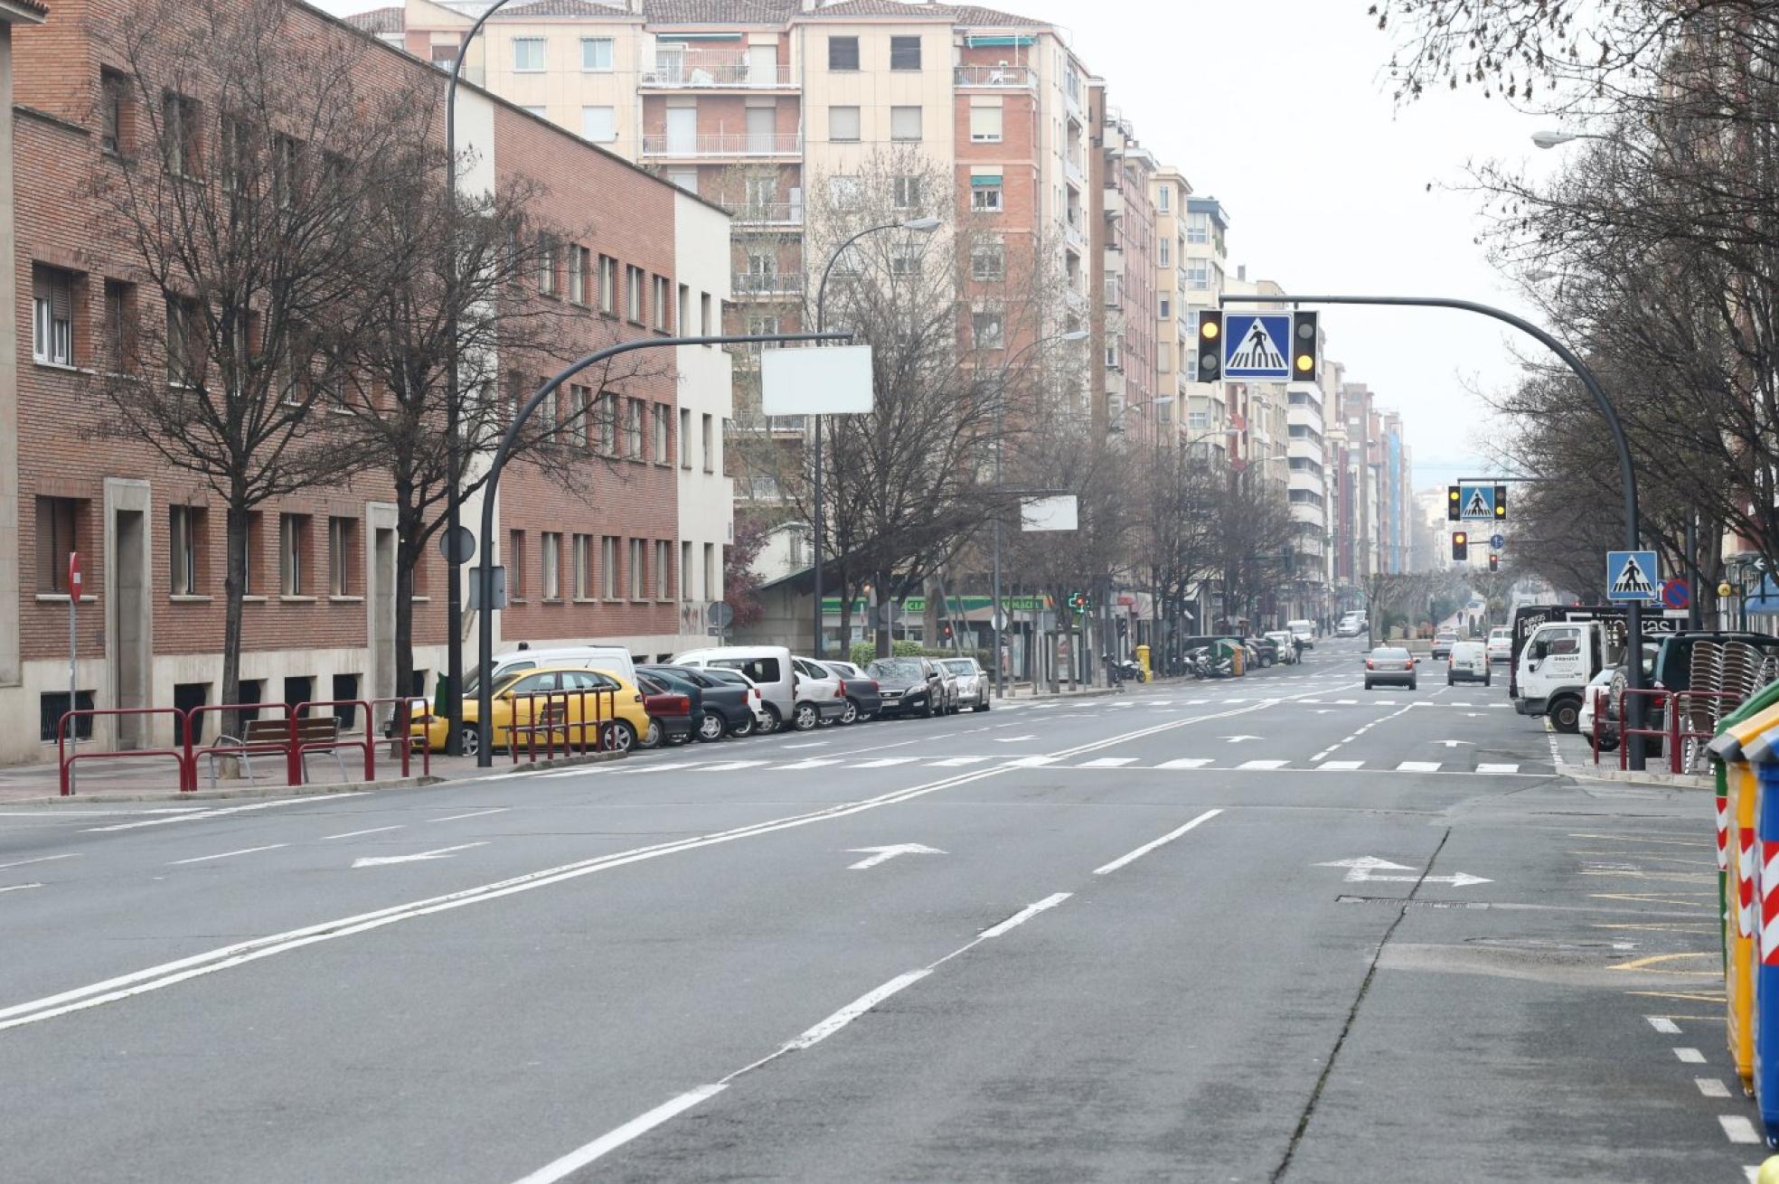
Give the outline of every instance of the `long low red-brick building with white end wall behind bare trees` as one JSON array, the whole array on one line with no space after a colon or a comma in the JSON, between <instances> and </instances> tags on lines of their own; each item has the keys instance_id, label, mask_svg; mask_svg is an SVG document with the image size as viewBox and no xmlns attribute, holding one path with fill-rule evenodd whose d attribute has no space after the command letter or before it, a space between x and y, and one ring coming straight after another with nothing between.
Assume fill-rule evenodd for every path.
<instances>
[{"instance_id":1,"label":"long low red-brick building with white end wall behind bare trees","mask_svg":"<svg viewBox=\"0 0 1779 1184\"><path fill-rule=\"evenodd\" d=\"M9 4L16 0L0 0L7 27L25 23L7 16ZM146 441L107 437L94 446L89 432L103 414L93 379L119 356L123 334L139 318L173 316L91 197L94 176L151 148L142 139L144 112L114 82L126 73L123 32L144 12L139 4L50 11L39 27L11 30L12 69L0 69L0 84L12 82L11 101L0 103L0 148L11 149L0 151L0 194L12 196L11 204L0 201L0 263L14 277L4 299L25 293L32 313L0 316L0 482L7 492L0 505L18 516L0 530L0 594L14 604L0 613L0 704L7 708L0 711L0 761L53 754L44 741L69 706L69 551L82 555L85 569L75 706L219 700L224 510L217 494ZM370 87L415 84L443 94L443 76L397 52L393 34L365 34L292 2L281 36L306 44L334 39L361 55L354 78ZM171 73L171 62L151 62L149 78L164 66ZM203 91L169 101L178 101L190 148L181 160L189 183L226 183L217 171L228 167L217 96ZM523 290L527 300L560 309L553 324L564 348L665 334L694 315L680 309L713 315L720 308L728 268L710 261L726 260L724 210L482 91L466 89L457 114L461 142L473 155L466 188L523 178L539 187L539 220L573 228ZM11 336L14 325L27 332ZM516 359L496 363L503 377L496 396L514 404L544 377ZM585 455L566 459L573 489L527 462L505 471L493 540L511 596L496 615L502 647L601 640L660 656L703 633L685 622L720 597L729 526L715 466L728 364L720 350L665 354L610 389L568 388L550 409L564 414L575 400L605 396L623 414L612 439L589 434ZM148 366L144 380L174 380L171 359ZM703 503L681 510L687 498ZM477 521L479 508L471 501L466 521ZM359 473L262 503L247 546L244 699L431 690L432 672L445 665L448 569L429 548L415 571L418 677L415 688L397 688L395 507L384 476ZM94 736L141 741L146 731L101 725Z\"/></svg>"}]
</instances>

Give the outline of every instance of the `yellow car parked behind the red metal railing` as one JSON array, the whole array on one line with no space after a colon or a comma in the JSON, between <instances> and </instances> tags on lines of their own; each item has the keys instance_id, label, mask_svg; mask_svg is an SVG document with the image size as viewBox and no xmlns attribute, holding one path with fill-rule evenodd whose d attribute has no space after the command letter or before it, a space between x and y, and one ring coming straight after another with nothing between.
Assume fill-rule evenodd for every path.
<instances>
[{"instance_id":1,"label":"yellow car parked behind the red metal railing","mask_svg":"<svg viewBox=\"0 0 1779 1184\"><path fill-rule=\"evenodd\" d=\"M555 692L555 699L546 700L546 692ZM568 740L575 747L582 743L582 729L576 727L582 722L587 724L585 743L589 748L598 738L600 729L592 725L596 720L612 720L610 740L607 743L619 752L635 748L637 740L649 731L649 713L642 706L640 692L637 692L635 683L630 679L603 670L582 670L580 667L546 667L543 670L525 670L495 686L495 748L507 747L507 732L514 722L523 727L532 718L541 718L546 702L555 702L557 706L566 702ZM480 718L475 697L464 699L464 756L475 756L482 747L482 734L477 727ZM448 722L445 716L434 715L429 708L423 715L415 716L413 736L425 741L432 752L443 752L447 727ZM518 743L521 748L530 743L523 731L518 736ZM557 747L562 745L560 731L557 731L555 743ZM544 747L543 732L537 732L537 747Z\"/></svg>"}]
</instances>

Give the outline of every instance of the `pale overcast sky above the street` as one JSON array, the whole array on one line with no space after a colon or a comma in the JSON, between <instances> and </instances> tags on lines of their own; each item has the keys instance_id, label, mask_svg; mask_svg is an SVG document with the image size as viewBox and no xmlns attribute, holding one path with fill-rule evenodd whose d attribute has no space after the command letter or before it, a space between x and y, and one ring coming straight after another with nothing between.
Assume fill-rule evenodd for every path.
<instances>
[{"instance_id":1,"label":"pale overcast sky above the street","mask_svg":"<svg viewBox=\"0 0 1779 1184\"><path fill-rule=\"evenodd\" d=\"M382 0L322 0L356 12ZM1548 119L1477 94L1397 110L1370 0L1007 0L1067 30L1139 140L1229 212L1229 263L1286 292L1448 295L1525 313L1484 260L1468 160L1537 165ZM1432 192L1429 192L1432 185ZM1329 354L1402 411L1416 485L1482 475L1516 341L1469 313L1331 309ZM1532 347L1535 348L1535 347Z\"/></svg>"}]
</instances>

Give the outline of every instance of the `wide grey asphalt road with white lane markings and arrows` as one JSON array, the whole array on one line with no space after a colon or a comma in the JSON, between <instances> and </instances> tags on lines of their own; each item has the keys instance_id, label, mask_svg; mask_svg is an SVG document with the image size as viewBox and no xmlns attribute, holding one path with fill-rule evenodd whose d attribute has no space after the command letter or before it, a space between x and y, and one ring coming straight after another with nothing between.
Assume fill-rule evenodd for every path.
<instances>
[{"instance_id":1,"label":"wide grey asphalt road with white lane markings and arrows","mask_svg":"<svg viewBox=\"0 0 1779 1184\"><path fill-rule=\"evenodd\" d=\"M0 1180L1742 1180L1710 800L1357 654L4 809Z\"/></svg>"}]
</instances>

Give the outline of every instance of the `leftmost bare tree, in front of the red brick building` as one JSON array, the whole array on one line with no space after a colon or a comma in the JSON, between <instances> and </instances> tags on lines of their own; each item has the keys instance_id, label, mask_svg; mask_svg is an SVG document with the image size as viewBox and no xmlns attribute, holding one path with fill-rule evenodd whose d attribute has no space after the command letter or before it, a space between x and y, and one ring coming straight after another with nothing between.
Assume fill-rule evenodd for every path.
<instances>
[{"instance_id":1,"label":"leftmost bare tree, in front of the red brick building","mask_svg":"<svg viewBox=\"0 0 1779 1184\"><path fill-rule=\"evenodd\" d=\"M436 105L363 69L361 37L297 20L281 0L130 9L116 60L133 144L93 174L101 229L146 288L94 382L107 430L226 507L222 702L240 695L249 514L363 462L318 414L343 379L338 309L365 283L363 215Z\"/></svg>"}]
</instances>

